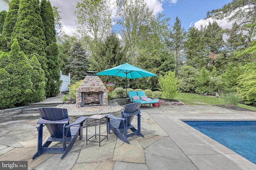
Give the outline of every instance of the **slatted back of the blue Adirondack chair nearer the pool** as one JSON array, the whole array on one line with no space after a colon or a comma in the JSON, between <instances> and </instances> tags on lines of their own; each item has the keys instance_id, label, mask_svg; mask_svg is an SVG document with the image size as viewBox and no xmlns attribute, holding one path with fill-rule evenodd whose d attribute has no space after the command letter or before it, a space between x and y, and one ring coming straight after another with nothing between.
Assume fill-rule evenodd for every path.
<instances>
[{"instance_id":1,"label":"slatted back of the blue Adirondack chair nearer the pool","mask_svg":"<svg viewBox=\"0 0 256 170\"><path fill-rule=\"evenodd\" d=\"M140 114L140 103L126 104L124 111L122 111L122 118L127 119L127 127L131 125L135 115ZM119 128L124 128L124 122L121 121Z\"/></svg>"}]
</instances>

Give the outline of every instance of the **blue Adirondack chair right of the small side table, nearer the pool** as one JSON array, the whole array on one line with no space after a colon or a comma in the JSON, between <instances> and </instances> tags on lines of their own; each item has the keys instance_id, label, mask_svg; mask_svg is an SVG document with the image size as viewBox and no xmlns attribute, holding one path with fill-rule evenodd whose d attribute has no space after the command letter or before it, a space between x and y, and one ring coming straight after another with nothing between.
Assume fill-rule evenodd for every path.
<instances>
[{"instance_id":1,"label":"blue Adirondack chair right of the small side table, nearer the pool","mask_svg":"<svg viewBox=\"0 0 256 170\"><path fill-rule=\"evenodd\" d=\"M144 135L140 132L140 105L140 103L126 104L124 110L121 111L122 117L115 117L111 114L106 114L108 115L108 119L106 122L108 134L110 134L111 129L120 140L128 144L130 144L130 142L128 141L128 137L131 137L133 135L144 137ZM131 122L135 115L138 116L138 129L131 125ZM127 132L128 129L132 131L129 134ZM124 132L124 134L121 133L122 131Z\"/></svg>"}]
</instances>

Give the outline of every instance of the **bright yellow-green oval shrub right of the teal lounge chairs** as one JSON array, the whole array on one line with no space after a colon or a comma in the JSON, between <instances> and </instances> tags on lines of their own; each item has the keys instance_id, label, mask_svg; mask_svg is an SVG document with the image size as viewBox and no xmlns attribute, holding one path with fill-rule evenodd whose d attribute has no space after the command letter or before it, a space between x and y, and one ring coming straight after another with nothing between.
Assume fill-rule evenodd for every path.
<instances>
[{"instance_id":1,"label":"bright yellow-green oval shrub right of the teal lounge chairs","mask_svg":"<svg viewBox=\"0 0 256 170\"><path fill-rule=\"evenodd\" d=\"M163 92L162 94L168 99L173 100L179 93L179 80L172 71L166 72L164 76L160 75L158 85Z\"/></svg>"}]
</instances>

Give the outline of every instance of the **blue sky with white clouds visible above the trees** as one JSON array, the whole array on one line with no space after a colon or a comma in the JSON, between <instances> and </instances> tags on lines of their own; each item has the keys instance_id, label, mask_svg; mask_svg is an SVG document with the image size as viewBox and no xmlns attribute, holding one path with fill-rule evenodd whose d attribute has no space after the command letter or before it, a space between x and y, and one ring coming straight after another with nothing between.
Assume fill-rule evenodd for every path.
<instances>
[{"instance_id":1,"label":"blue sky with white clouds visible above the trees","mask_svg":"<svg viewBox=\"0 0 256 170\"><path fill-rule=\"evenodd\" d=\"M81 0L50 0L52 6L58 7L60 11L60 17L62 20L63 30L68 35L72 35L75 32L74 27L76 16L76 4ZM113 0L110 0L113 1ZM154 11L154 14L162 13L165 17L171 18L171 24L173 25L176 17L180 19L182 27L188 30L190 27L200 28L200 25L208 25L209 19L206 18L207 11L222 8L225 4L232 2L232 0L145 0L150 10ZM211 20L212 22L212 20ZM219 25L225 28L231 28L232 23L228 23L226 20L217 21Z\"/></svg>"}]
</instances>

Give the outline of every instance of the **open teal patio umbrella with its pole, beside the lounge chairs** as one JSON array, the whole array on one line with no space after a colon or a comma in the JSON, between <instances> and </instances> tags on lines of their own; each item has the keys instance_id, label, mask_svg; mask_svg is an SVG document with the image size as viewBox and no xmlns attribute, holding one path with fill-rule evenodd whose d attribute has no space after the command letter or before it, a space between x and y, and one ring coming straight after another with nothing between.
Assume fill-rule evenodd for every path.
<instances>
[{"instance_id":1,"label":"open teal patio umbrella with its pole, beside the lounge chairs","mask_svg":"<svg viewBox=\"0 0 256 170\"><path fill-rule=\"evenodd\" d=\"M126 78L126 98L127 98L127 78L135 79L135 78L141 78L141 77L157 76L156 74L153 74L151 72L148 72L146 70L143 70L141 68L138 68L128 63L121 64L113 68L109 68L102 72L98 72L96 73L96 75L125 77Z\"/></svg>"}]
</instances>

